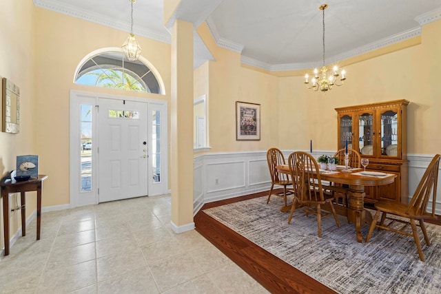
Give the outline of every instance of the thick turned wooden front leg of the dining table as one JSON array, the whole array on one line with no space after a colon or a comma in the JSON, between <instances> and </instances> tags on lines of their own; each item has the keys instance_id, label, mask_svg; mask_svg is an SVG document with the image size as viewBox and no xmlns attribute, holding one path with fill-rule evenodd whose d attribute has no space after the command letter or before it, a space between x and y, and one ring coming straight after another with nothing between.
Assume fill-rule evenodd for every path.
<instances>
[{"instance_id":1,"label":"thick turned wooden front leg of the dining table","mask_svg":"<svg viewBox=\"0 0 441 294\"><path fill-rule=\"evenodd\" d=\"M357 241L362 242L361 224L365 223L365 187L359 185L349 185L351 196L349 197L348 220L353 222L356 227Z\"/></svg>"}]
</instances>

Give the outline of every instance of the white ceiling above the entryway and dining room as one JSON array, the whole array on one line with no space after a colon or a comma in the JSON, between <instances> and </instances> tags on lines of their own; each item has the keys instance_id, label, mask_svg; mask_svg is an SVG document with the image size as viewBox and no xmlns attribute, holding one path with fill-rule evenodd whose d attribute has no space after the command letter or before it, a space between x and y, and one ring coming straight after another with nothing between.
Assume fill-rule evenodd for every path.
<instances>
[{"instance_id":1,"label":"white ceiling above the entryway and dining room","mask_svg":"<svg viewBox=\"0 0 441 294\"><path fill-rule=\"evenodd\" d=\"M334 63L421 34L421 26L441 18L441 0L182 0L163 22L163 1L134 3L135 35L170 43L175 19L206 21L216 43L240 52L242 63L265 70L297 70L322 65L322 11L325 62ZM34 0L54 10L130 32L129 0ZM124 40L121 40L123 43ZM211 54L195 33L195 66ZM147 50L147 48L143 48Z\"/></svg>"}]
</instances>

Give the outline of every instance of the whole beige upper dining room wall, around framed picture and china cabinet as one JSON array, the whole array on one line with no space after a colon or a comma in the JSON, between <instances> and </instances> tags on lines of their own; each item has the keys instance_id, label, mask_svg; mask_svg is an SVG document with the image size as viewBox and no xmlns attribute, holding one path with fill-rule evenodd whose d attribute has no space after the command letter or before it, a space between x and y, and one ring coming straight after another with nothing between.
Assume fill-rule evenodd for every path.
<instances>
[{"instance_id":1,"label":"whole beige upper dining room wall, around framed picture and china cabinet","mask_svg":"<svg viewBox=\"0 0 441 294\"><path fill-rule=\"evenodd\" d=\"M441 138L438 73L441 21L422 27L421 38L342 61L347 81L323 94L307 90L307 72L265 73L240 67L240 54L218 48L205 25L198 28L216 61L209 62L209 136L212 151L280 149L335 150L337 114L334 108L407 99L408 153L437 154ZM393 51L396 50L396 51ZM280 76L275 78L275 76ZM234 101L260 103L262 139L236 141Z\"/></svg>"}]
</instances>

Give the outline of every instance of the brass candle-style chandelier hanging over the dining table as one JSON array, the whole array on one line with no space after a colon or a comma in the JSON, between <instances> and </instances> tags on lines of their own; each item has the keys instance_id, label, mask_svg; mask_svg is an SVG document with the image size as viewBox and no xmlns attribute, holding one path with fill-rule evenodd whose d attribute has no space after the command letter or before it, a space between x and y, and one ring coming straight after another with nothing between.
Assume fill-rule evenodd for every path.
<instances>
[{"instance_id":1,"label":"brass candle-style chandelier hanging over the dining table","mask_svg":"<svg viewBox=\"0 0 441 294\"><path fill-rule=\"evenodd\" d=\"M311 80L312 85L309 85L309 81L308 81L309 75L305 74L306 87L314 91L320 89L320 91L322 92L326 92L327 90L332 90L332 87L334 85L340 87L341 85L343 85L343 81L346 80L345 70L342 70L341 78L340 78L341 83L338 84L337 78L338 76L340 76L340 74L338 73L338 67L336 65L334 65L334 67L331 70L332 74L329 74L329 76L327 76L326 74L326 72L328 71L327 67L325 66L325 9L326 8L328 8L327 4L323 4L318 8L323 12L323 66L322 69L320 70L322 74L321 76L319 76L318 69L317 68L314 69L314 78L312 78Z\"/></svg>"}]
</instances>

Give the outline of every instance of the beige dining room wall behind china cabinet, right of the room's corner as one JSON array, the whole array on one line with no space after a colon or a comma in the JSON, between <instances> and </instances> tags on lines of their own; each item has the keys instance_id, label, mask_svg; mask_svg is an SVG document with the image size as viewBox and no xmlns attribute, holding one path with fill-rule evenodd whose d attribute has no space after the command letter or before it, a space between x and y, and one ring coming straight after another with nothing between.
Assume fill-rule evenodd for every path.
<instances>
[{"instance_id":1,"label":"beige dining room wall behind china cabinet, right of the room's corner","mask_svg":"<svg viewBox=\"0 0 441 294\"><path fill-rule=\"evenodd\" d=\"M326 94L306 90L300 76L280 78L279 146L309 149L311 138L314 149L335 150L334 108L407 99L411 101L407 112L408 154L441 153L441 138L435 135L441 125L440 33L441 21L424 25L420 45L348 65L345 85ZM284 134L289 134L286 140Z\"/></svg>"}]
</instances>

